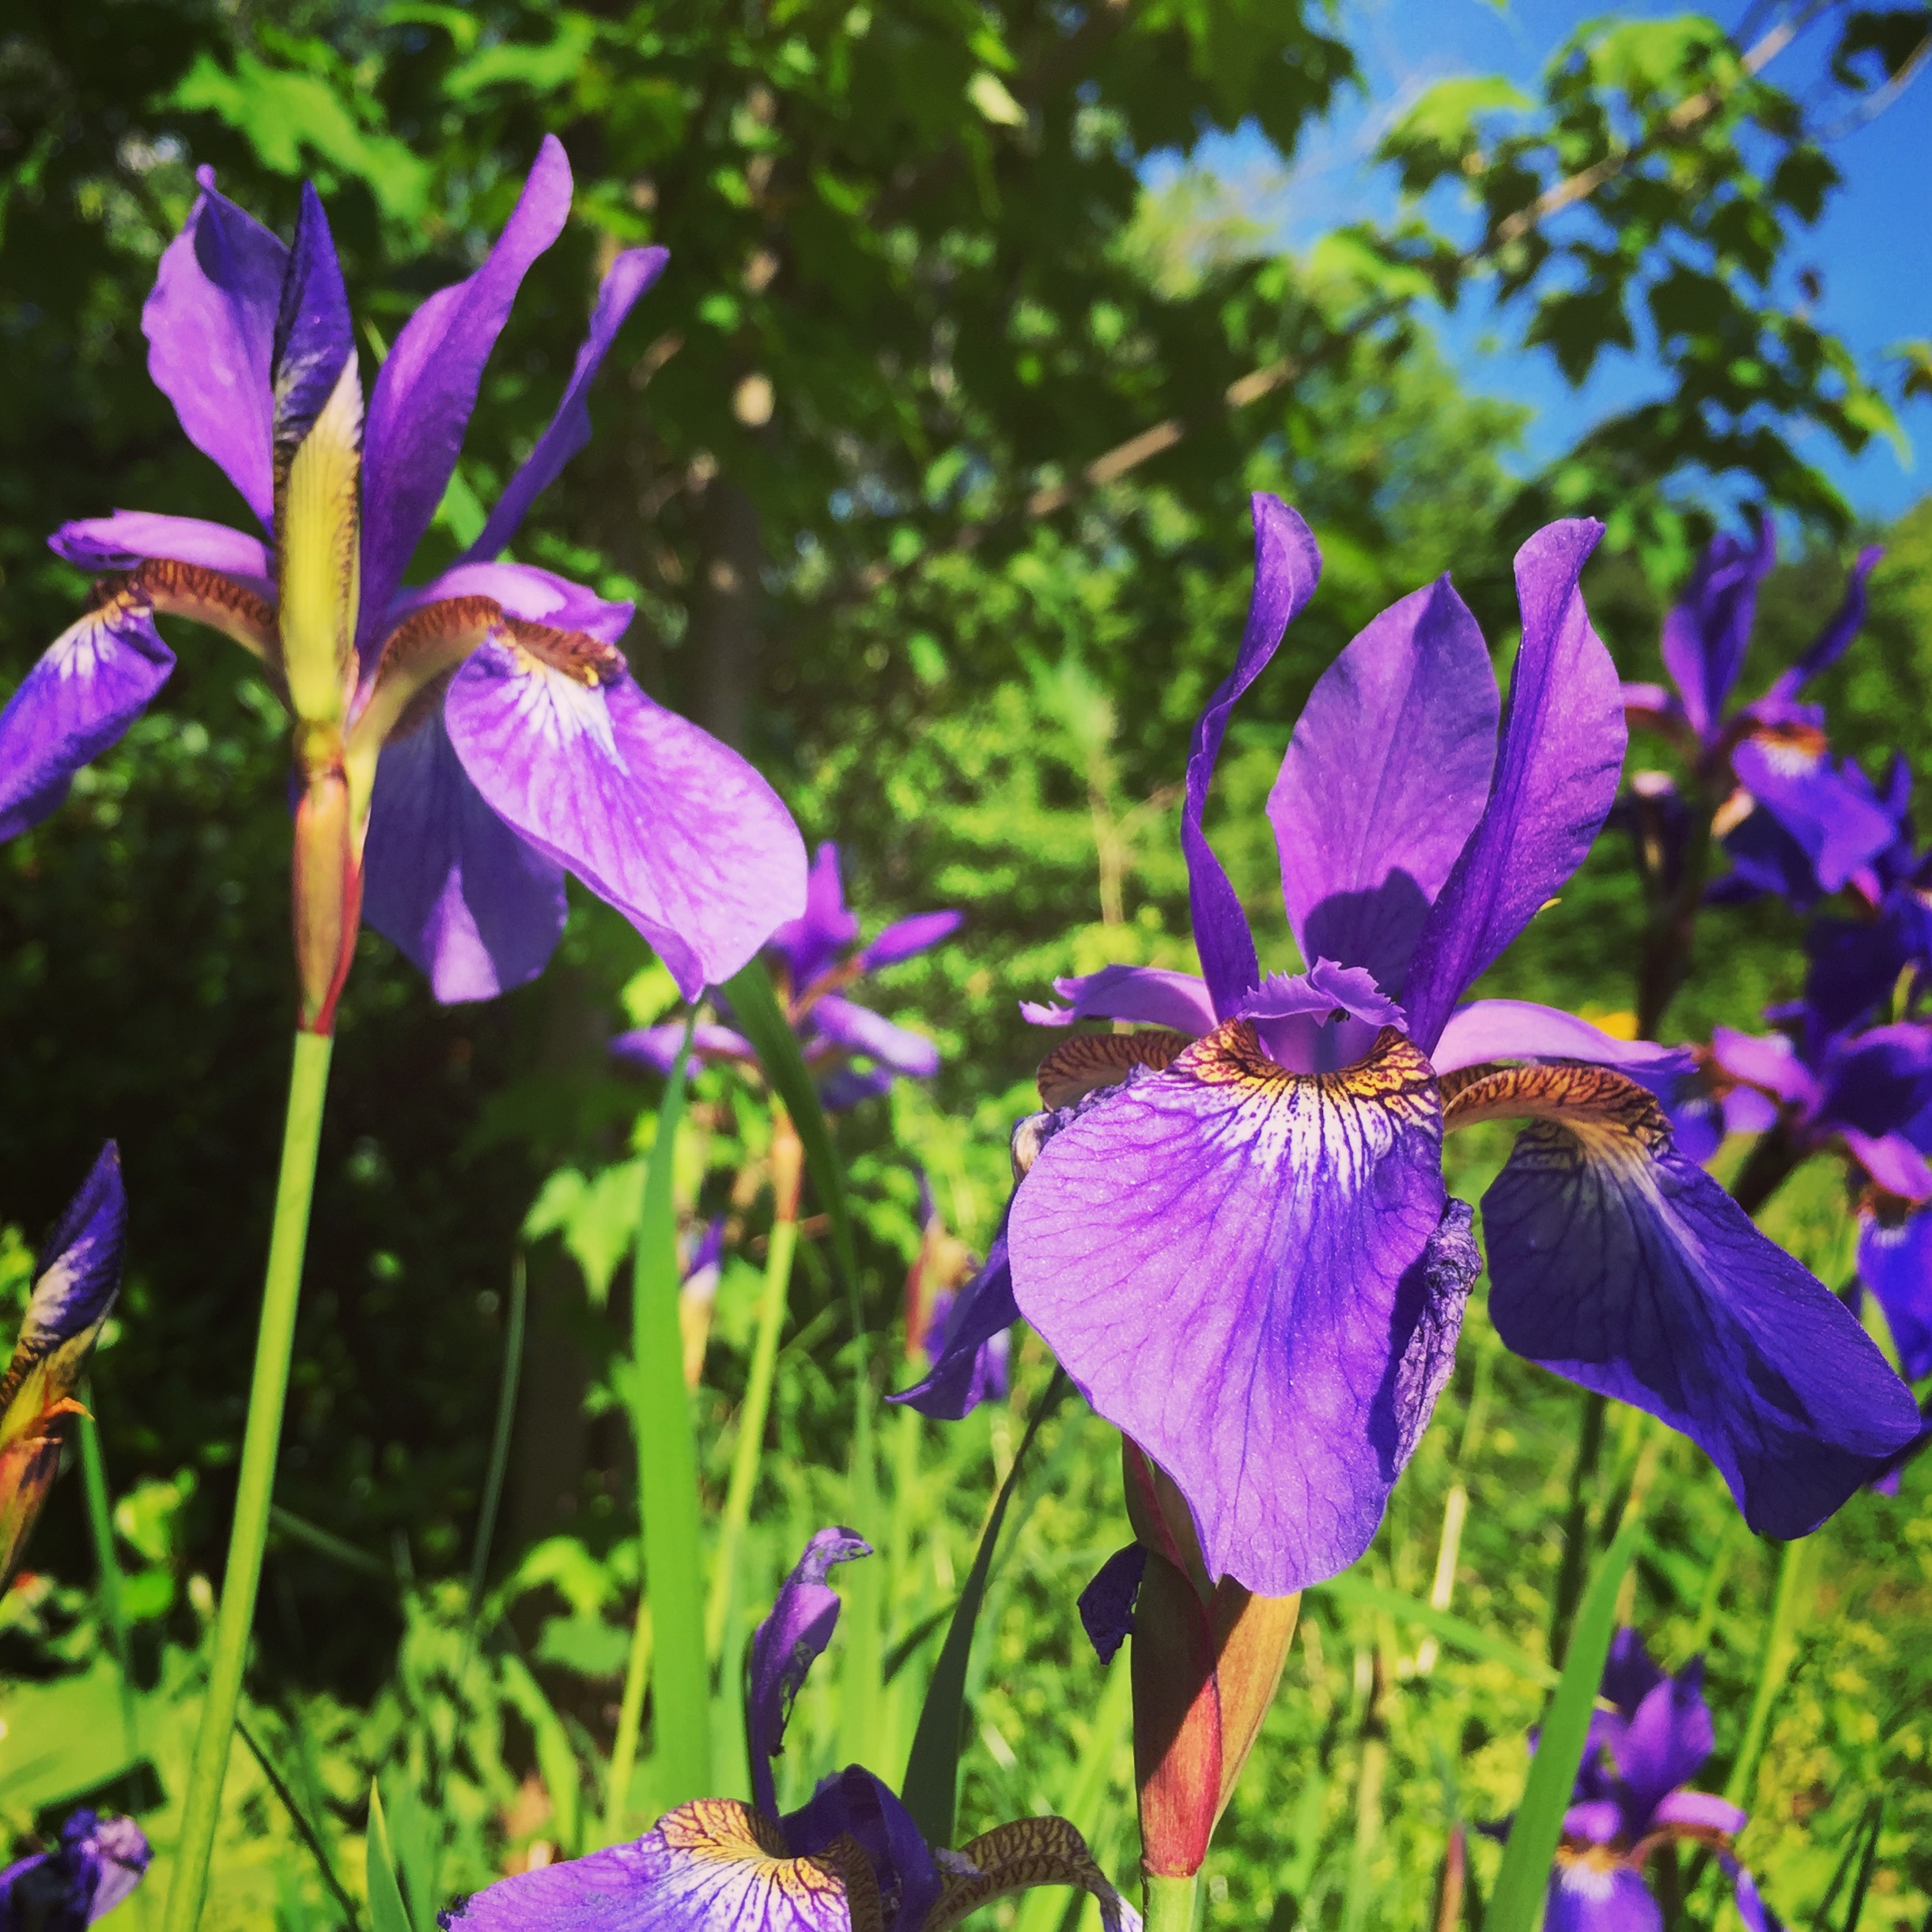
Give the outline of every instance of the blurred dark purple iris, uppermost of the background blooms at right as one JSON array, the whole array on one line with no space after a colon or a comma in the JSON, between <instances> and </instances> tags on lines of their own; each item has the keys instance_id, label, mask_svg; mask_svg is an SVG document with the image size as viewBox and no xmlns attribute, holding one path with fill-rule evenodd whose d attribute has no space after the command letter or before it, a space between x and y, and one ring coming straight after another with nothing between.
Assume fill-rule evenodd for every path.
<instances>
[{"instance_id":1,"label":"blurred dark purple iris, uppermost of the background blooms at right","mask_svg":"<svg viewBox=\"0 0 1932 1932\"><path fill-rule=\"evenodd\" d=\"M1719 531L1663 620L1663 668L1675 690L1627 684L1633 724L1662 730L1706 790L1725 798L1718 831L1731 856L1719 898L1781 893L1810 904L1835 893L1891 837L1855 765L1832 757L1824 711L1799 692L1845 655L1864 622L1864 580L1884 553L1859 553L1845 601L1803 657L1758 699L1731 707L1750 647L1758 587L1777 562L1770 516L1754 543Z\"/></svg>"}]
</instances>

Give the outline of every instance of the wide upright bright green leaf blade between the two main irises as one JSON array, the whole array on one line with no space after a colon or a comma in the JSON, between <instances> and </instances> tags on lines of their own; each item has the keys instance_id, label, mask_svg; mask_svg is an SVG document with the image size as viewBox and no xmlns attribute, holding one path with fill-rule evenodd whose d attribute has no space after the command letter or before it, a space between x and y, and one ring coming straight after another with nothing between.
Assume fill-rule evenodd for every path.
<instances>
[{"instance_id":1,"label":"wide upright bright green leaf blade between the two main irises","mask_svg":"<svg viewBox=\"0 0 1932 1932\"><path fill-rule=\"evenodd\" d=\"M630 1294L630 1426L638 1443L643 1588L638 1594L638 1625L611 1752L607 1843L624 1835L647 1671L657 1681L655 1797L670 1806L711 1795L711 1671L705 1667L697 1434L690 1389L684 1387L678 1217L672 1194L678 1124L684 1119L684 1063L690 1051L688 1022L657 1109L657 1140L643 1167L643 1202L638 1213L638 1273Z\"/></svg>"}]
</instances>

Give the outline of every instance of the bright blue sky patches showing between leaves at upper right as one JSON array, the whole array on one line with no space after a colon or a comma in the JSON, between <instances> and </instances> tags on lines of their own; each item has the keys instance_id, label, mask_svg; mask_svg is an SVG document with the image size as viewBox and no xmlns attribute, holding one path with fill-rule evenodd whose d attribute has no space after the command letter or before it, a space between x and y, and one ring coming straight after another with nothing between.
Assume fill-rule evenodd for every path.
<instances>
[{"instance_id":1,"label":"bright blue sky patches showing between leaves at upper right","mask_svg":"<svg viewBox=\"0 0 1932 1932\"><path fill-rule=\"evenodd\" d=\"M1727 25L1747 12L1743 0L1718 0L1710 10ZM1505 73L1534 91L1548 56L1604 12L1602 0L1347 0L1343 33L1362 62L1366 97L1347 100L1314 129L1285 178L1260 137L1217 139L1198 158L1236 184L1289 247L1345 220L1389 216L1397 209L1393 178L1370 156L1393 116L1455 73ZM1615 12L1667 15L1683 8L1634 4ZM1830 39L1830 25L1820 25L1779 54L1766 79L1804 99L1820 81ZM1833 141L1832 156L1843 187L1818 226L1801 236L1793 269L1822 274L1818 319L1872 369L1891 344L1932 336L1932 70L1876 120ZM1592 421L1656 386L1636 357L1613 355L1573 390L1548 355L1499 344L1493 321L1468 303L1445 321L1443 338L1472 384L1534 406L1532 456L1565 448ZM1889 377L1886 388L1895 396ZM1915 400L1901 421L1913 442L1905 460L1884 442L1855 460L1824 435L1806 444L1866 516L1895 516L1932 493L1932 400Z\"/></svg>"}]
</instances>

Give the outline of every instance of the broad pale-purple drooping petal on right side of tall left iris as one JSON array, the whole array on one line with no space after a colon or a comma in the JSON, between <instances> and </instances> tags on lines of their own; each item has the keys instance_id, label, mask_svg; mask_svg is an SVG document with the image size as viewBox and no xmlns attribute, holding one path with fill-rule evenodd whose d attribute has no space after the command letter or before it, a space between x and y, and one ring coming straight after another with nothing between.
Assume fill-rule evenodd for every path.
<instances>
[{"instance_id":1,"label":"broad pale-purple drooping petal on right side of tall left iris","mask_svg":"<svg viewBox=\"0 0 1932 1932\"><path fill-rule=\"evenodd\" d=\"M593 688L489 639L444 719L491 808L616 906L686 999L802 908L806 848L779 794L630 672Z\"/></svg>"}]
</instances>

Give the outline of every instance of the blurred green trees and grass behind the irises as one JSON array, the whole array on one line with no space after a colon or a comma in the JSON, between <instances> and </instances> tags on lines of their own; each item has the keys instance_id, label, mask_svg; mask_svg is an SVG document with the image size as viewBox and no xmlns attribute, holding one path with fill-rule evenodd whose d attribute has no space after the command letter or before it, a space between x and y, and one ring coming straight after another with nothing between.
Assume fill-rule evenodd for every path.
<instances>
[{"instance_id":1,"label":"blurred green trees and grass behind the irises","mask_svg":"<svg viewBox=\"0 0 1932 1932\"><path fill-rule=\"evenodd\" d=\"M1824 12L1824 31L1853 46L1868 15ZM1501 663L1515 545L1549 514L1592 510L1611 526L1586 580L1592 611L1625 674L1652 676L1663 599L1714 506L1754 497L1789 512L1801 541L1764 599L1750 684L1835 603L1855 533L1799 448L1806 433L1847 448L1886 433L1893 375L1859 369L1776 294L1835 178L1776 70L1748 75L1723 23L1685 17L1611 21L1557 50L1538 100L1451 83L1389 137L1418 197L1405 222L1298 257L1200 172L1146 191L1146 156L1186 153L1209 128L1252 122L1293 156L1354 85L1349 29L1345 10L1281 0L23 6L0 29L0 686L85 593L43 547L62 518L112 504L240 514L147 383L139 336L195 164L284 230L299 178L317 180L373 367L413 305L477 259L539 137L558 131L576 216L491 363L419 574L473 535L547 419L599 265L620 245L668 243L672 267L593 398L595 442L518 554L638 601L638 674L744 744L810 838L840 840L867 929L933 904L968 916L956 943L883 983L885 1005L941 1041L945 1072L840 1128L869 1318L891 1337L918 1238L914 1163L972 1242L1005 1200L1005 1136L1039 1051L1016 1001L1107 960L1192 966L1177 781L1238 632L1250 489L1294 500L1325 554L1318 603L1244 701L1211 821L1271 964L1291 943L1260 804L1316 674L1391 597L1453 568ZM1911 44L1859 56L1859 85ZM1605 185L1578 209L1511 228L1605 158ZM1474 247L1447 238L1455 184L1476 211ZM1522 412L1466 394L1432 340L1435 301L1492 298L1573 377L1638 348L1667 400L1532 471ZM1229 386L1256 373L1267 381L1231 406ZM1151 460L1084 477L1155 425L1177 433ZM1886 543L1864 641L1822 696L1868 769L1903 752L1924 775L1932 506ZM234 653L182 643L155 713L68 808L0 848L0 1211L37 1238L108 1132L129 1179L129 1279L95 1403L124 1497L156 1835L185 1750L201 1578L218 1573L228 1515L290 1010L278 719ZM1605 837L1490 989L1619 1010L1638 920ZM1671 1032L1750 1024L1795 991L1797 931L1779 908L1710 920ZM361 941L278 1484L323 1536L286 1530L270 1549L251 1683L251 1723L346 1837L344 1872L359 1872L377 1770L394 1781L400 1847L437 1837L431 1814L446 1824L448 1847L417 1857L431 1888L481 1884L531 1837L570 1845L599 1808L593 1766L638 1586L612 1366L626 1281L597 1260L599 1242L618 1252L634 1190L601 1177L638 1151L645 1101L611 1074L603 1041L663 1005L645 968L630 929L587 896L551 972L489 1007L437 1009L392 949ZM696 1113L682 1175L694 1213L755 1169L765 1134L724 1076L705 1076ZM1492 1157L1478 1144L1459 1192L1480 1194ZM580 1180L558 1192L558 1173ZM539 1196L553 1211L526 1229ZM614 1227L583 1206L593 1196L605 1223L618 1204ZM769 1209L742 1206L755 1240ZM1845 1217L1824 1177L1803 1177L1776 1215L1828 1279L1843 1271ZM460 1578L520 1240L531 1337L477 1640ZM17 1238L6 1252L17 1294ZM750 1281L726 1277L699 1397L717 1484ZM833 1472L854 1364L835 1300L808 1242L753 1551L767 1582L848 1501ZM1457 1609L1540 1658L1575 1395L1495 1356L1480 1320L1472 1331L1368 1571L1426 1594L1443 1499L1464 1482ZM885 1349L873 1372L898 1381ZM875 1536L889 1654L951 1602L1041 1379L1026 1354L1014 1412L925 1432L918 1449L912 1424L889 1428L881 1509L898 1540ZM1619 1437L1619 1453L1638 1447ZM1097 1843L1124 1870L1124 1712L1070 1613L1121 1536L1111 1441L1068 1414L1041 1449L976 1656L962 1814L1095 1791ZM1710 1648L1721 1768L1758 1667L1770 1557L1733 1536L1685 1445L1665 1451L1658 1493L1633 1615L1673 1663ZM1822 1609L1745 1843L1787 1915L1818 1905L1880 1789L1870 1909L1901 1926L1928 1909L1926 1493L1920 1468L1899 1499L1861 1497L1826 1532ZM35 1565L41 1578L0 1609L0 1752L27 1723L108 1743L99 1762L52 1770L0 1756L0 1816L19 1832L126 1756L75 1480ZM1312 1600L1223 1830L1211 1922L1422 1922L1449 1822L1509 1810L1540 1690L1451 1652L1420 1671L1416 1644L1385 1613ZM856 1743L889 1774L929 1650L912 1642L866 1706ZM788 1756L800 1791L835 1748L850 1754L848 1731L815 1685ZM1364 1804L1378 1750L1385 1772ZM218 1911L336 1922L240 1756L234 1789ZM1478 1847L1478 1880L1490 1859ZM1692 1917L1714 1901L1706 1886Z\"/></svg>"}]
</instances>

